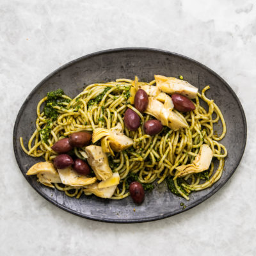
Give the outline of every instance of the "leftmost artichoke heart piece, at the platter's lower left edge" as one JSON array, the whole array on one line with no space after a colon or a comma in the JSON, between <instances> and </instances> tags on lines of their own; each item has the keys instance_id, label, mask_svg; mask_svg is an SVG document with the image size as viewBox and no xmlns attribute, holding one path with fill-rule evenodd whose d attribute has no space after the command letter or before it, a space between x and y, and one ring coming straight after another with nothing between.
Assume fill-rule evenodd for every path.
<instances>
[{"instance_id":1,"label":"leftmost artichoke heart piece, at the platter's lower left edge","mask_svg":"<svg viewBox=\"0 0 256 256\"><path fill-rule=\"evenodd\" d=\"M48 161L34 164L26 175L36 175L40 183L51 188L54 188L52 183L61 183L60 175L53 164Z\"/></svg>"}]
</instances>

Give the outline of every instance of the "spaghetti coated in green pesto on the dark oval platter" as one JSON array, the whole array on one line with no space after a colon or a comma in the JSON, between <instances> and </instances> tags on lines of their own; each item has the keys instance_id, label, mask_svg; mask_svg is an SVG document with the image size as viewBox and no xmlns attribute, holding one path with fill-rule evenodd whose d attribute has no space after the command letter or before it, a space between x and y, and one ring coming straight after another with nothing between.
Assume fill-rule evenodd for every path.
<instances>
[{"instance_id":1,"label":"spaghetti coated in green pesto on the dark oval platter","mask_svg":"<svg viewBox=\"0 0 256 256\"><path fill-rule=\"evenodd\" d=\"M153 85L150 83L137 83ZM58 104L47 102L49 97L38 102L36 108L36 129L28 141L28 150L24 147L22 138L20 145L24 152L33 157L44 157L45 161L53 161L56 153L52 145L61 138L65 138L73 132L93 131L95 128L111 129L120 123L124 133L134 140L133 146L122 152L115 152L115 156L108 156L109 165L113 172L120 175L120 184L116 188L111 199L122 199L129 196L127 184L129 179L136 178L141 184L160 184L167 181L168 188L176 195L181 195L189 200L191 191L199 191L209 188L220 179L223 172L224 158L227 156L226 148L219 142L226 133L226 125L220 109L213 100L205 96L210 86L206 86L202 93L197 93L195 110L188 113L180 113L173 109L181 118L185 118L188 128L173 131L164 127L163 131L154 136L145 134L143 124L152 116L140 113L129 102L130 89L134 81L130 79L117 79L109 83L90 84L74 99L60 93ZM200 102L205 102L205 109ZM50 106L56 116L49 117L47 108ZM124 113L131 108L141 118L141 125L137 131L129 131L124 125ZM49 109L48 109L49 110ZM213 117L215 116L215 117ZM214 132L214 124L221 121L223 131L220 136ZM96 143L96 145L99 142ZM181 164L192 163L198 154L200 147L205 143L213 152L213 157L218 161L212 161L209 170L200 173L190 173L185 177L174 179L175 168ZM84 159L84 148L74 148L74 154ZM215 163L216 162L216 163ZM216 167L214 168L214 165ZM77 189L63 184L54 186L65 191L68 196L79 198L83 189Z\"/></svg>"}]
</instances>

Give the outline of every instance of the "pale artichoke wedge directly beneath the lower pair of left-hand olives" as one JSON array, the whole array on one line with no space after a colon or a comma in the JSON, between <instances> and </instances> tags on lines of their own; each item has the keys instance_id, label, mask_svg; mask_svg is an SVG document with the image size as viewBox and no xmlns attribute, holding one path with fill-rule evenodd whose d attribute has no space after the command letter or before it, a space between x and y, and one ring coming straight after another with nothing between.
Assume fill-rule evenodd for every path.
<instances>
[{"instance_id":1,"label":"pale artichoke wedge directly beneath the lower pair of left-hand olives","mask_svg":"<svg viewBox=\"0 0 256 256\"><path fill-rule=\"evenodd\" d=\"M96 177L87 177L86 175L79 175L71 166L64 169L58 169L61 182L65 185L74 187L84 187L93 184L97 181Z\"/></svg>"}]
</instances>

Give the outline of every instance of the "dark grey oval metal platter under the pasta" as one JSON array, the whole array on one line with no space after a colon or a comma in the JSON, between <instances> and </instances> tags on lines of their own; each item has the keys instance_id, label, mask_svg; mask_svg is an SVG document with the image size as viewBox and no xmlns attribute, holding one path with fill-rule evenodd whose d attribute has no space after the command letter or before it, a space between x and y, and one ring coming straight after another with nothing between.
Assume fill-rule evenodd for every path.
<instances>
[{"instance_id":1,"label":"dark grey oval metal platter under the pasta","mask_svg":"<svg viewBox=\"0 0 256 256\"><path fill-rule=\"evenodd\" d=\"M211 188L191 193L187 202L168 191L165 182L151 192L146 192L145 201L135 205L131 197L123 200L108 200L96 196L70 198L57 189L47 188L36 182L35 176L26 176L30 166L42 161L27 156L20 147L19 138L24 145L35 131L36 105L47 92L62 88L70 97L76 96L88 84L113 81L117 78L151 81L154 74L163 76L184 76L186 81L202 90L206 84L211 86L207 97L214 99L227 122L227 134L221 141L228 150L225 171ZM221 131L221 127L216 127ZM218 74L195 60L173 52L147 48L124 48L88 54L58 68L39 83L29 94L20 108L13 131L13 148L19 168L29 184L45 199L65 211L90 220L113 223L136 223L160 220L179 212L191 209L218 191L235 172L246 145L246 118L233 90ZM183 202L186 209L180 206ZM134 211L134 208L136 211Z\"/></svg>"}]
</instances>

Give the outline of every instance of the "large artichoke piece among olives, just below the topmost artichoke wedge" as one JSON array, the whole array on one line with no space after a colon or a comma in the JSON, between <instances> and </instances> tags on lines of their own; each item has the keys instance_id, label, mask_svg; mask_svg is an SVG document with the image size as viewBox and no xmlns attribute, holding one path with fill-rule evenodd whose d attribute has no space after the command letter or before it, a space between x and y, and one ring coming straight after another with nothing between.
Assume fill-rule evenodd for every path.
<instances>
[{"instance_id":1,"label":"large artichoke piece among olives, just below the topmost artichoke wedge","mask_svg":"<svg viewBox=\"0 0 256 256\"><path fill-rule=\"evenodd\" d=\"M173 102L170 96L166 95L164 104L154 97L148 97L148 107L145 113L157 118L163 125L177 131L188 127L185 120L172 111Z\"/></svg>"}]
</instances>

